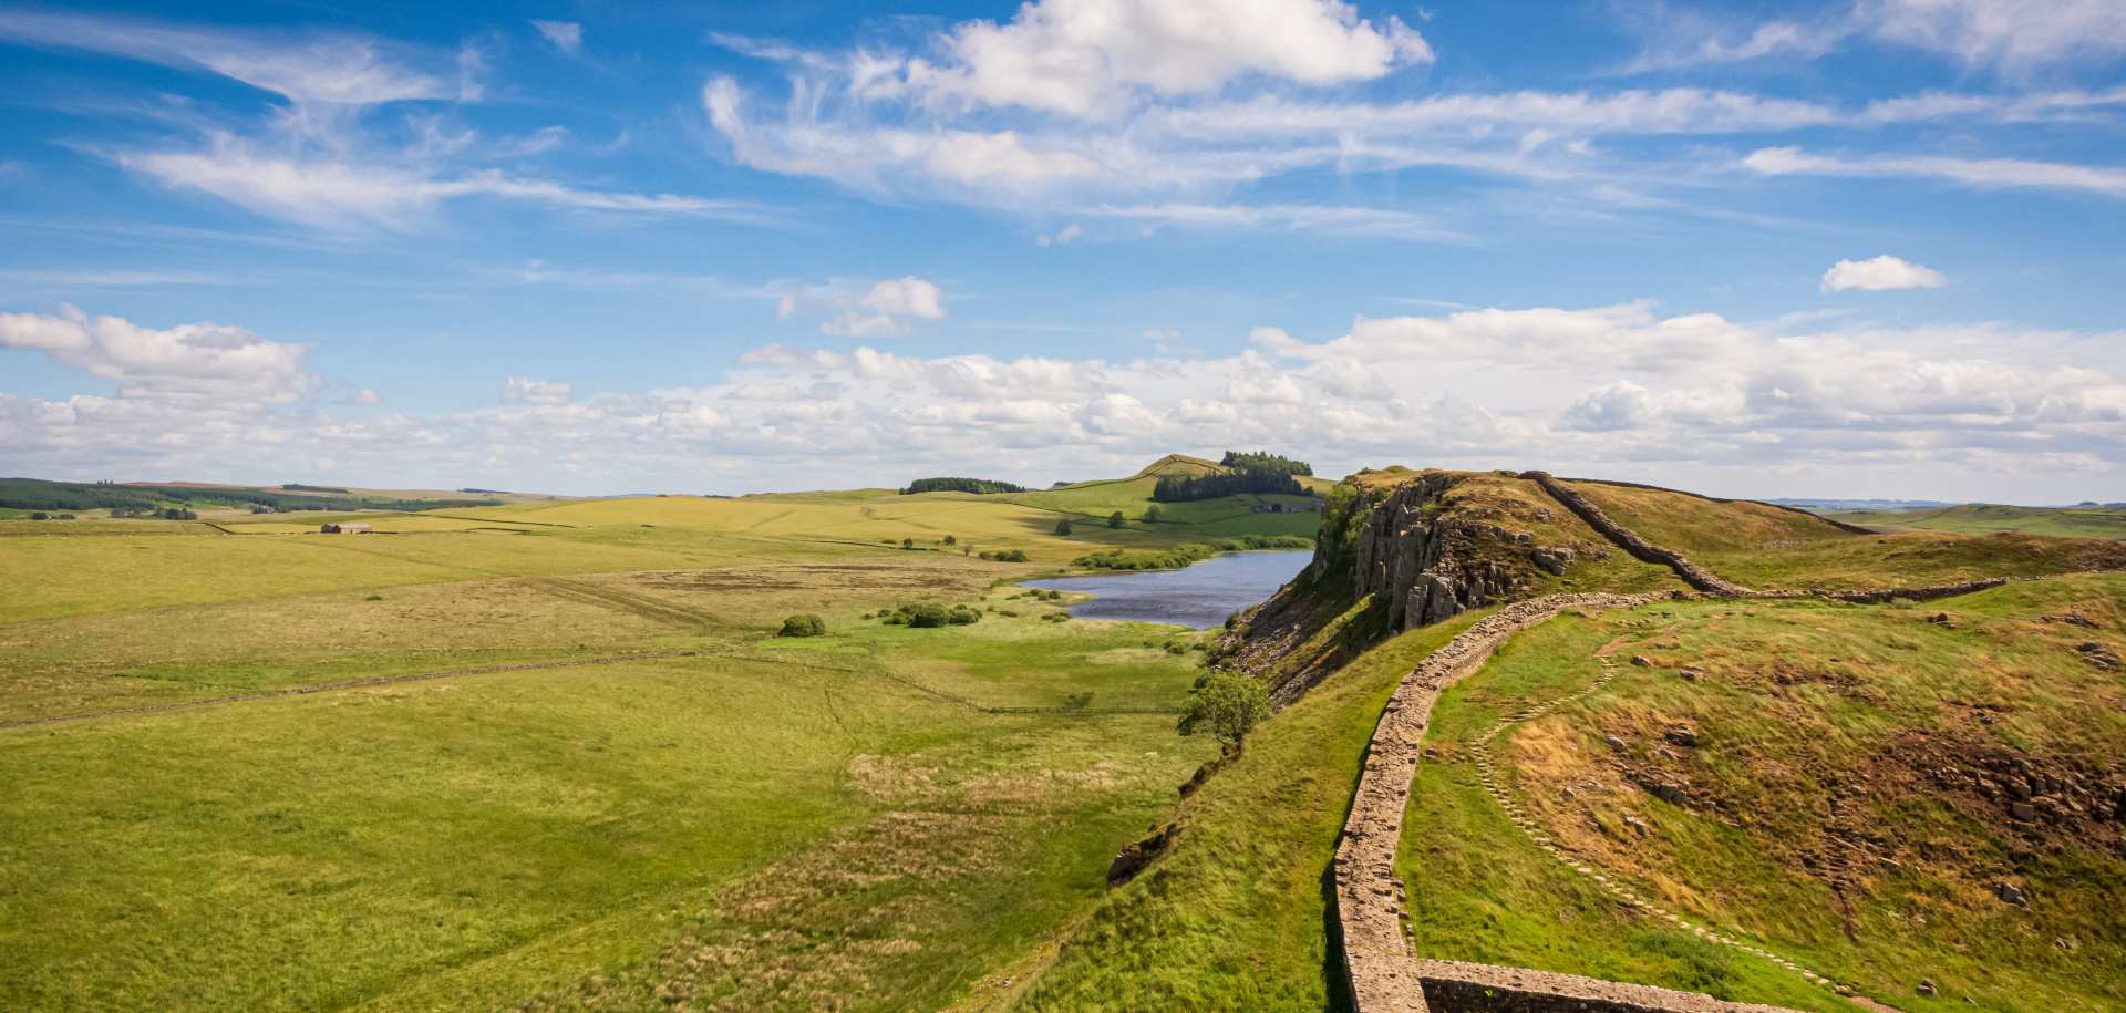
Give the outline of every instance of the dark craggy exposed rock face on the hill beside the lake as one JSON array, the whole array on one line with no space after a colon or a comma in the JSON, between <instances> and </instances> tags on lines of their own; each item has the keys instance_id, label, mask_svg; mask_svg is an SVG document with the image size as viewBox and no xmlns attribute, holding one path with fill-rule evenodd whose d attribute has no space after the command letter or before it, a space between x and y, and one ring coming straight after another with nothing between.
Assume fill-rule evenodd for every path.
<instances>
[{"instance_id":1,"label":"dark craggy exposed rock face on the hill beside the lake","mask_svg":"<svg viewBox=\"0 0 2126 1013\"><path fill-rule=\"evenodd\" d=\"M1384 599L1397 631L1522 597L1526 569L1514 561L1563 573L1573 559L1571 546L1535 546L1526 531L1507 531L1444 510L1448 491L1463 480L1465 476L1422 474L1395 486L1359 525L1352 597Z\"/></svg>"}]
</instances>

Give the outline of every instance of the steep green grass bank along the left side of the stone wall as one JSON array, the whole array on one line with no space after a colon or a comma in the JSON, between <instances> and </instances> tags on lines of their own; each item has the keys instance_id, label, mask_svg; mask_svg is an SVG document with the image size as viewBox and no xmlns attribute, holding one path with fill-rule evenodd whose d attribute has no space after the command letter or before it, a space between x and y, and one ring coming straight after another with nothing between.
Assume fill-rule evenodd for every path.
<instances>
[{"instance_id":1,"label":"steep green grass bank along the left side of the stone wall","mask_svg":"<svg viewBox=\"0 0 2126 1013\"><path fill-rule=\"evenodd\" d=\"M1405 633L1259 726L1182 803L1174 849L1114 890L1020 996L1025 1009L1322 1009L1329 860L1395 684L1469 616Z\"/></svg>"}]
</instances>

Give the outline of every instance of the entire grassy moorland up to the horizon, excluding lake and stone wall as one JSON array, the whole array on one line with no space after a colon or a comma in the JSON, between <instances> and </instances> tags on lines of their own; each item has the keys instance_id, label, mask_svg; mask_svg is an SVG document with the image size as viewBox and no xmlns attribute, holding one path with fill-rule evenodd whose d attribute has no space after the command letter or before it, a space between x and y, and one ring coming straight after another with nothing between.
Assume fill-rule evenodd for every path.
<instances>
[{"instance_id":1,"label":"entire grassy moorland up to the horizon, excluding lake and stone wall","mask_svg":"<svg viewBox=\"0 0 2126 1013\"><path fill-rule=\"evenodd\" d=\"M0 1007L1342 1009L1337 849L1390 697L1597 590L1631 599L1437 688L1393 796L1399 960L2126 1002L2120 542L1301 471L11 480ZM1214 631L1018 586L1290 546L1314 563ZM1178 735L1205 671L1276 711Z\"/></svg>"}]
</instances>

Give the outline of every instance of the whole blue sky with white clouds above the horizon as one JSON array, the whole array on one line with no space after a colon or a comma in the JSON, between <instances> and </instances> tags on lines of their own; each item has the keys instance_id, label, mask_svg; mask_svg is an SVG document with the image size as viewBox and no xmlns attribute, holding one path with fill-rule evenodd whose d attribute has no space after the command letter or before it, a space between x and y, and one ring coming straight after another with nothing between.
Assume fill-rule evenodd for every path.
<instances>
[{"instance_id":1,"label":"whole blue sky with white clouds above the horizon","mask_svg":"<svg viewBox=\"0 0 2126 1013\"><path fill-rule=\"evenodd\" d=\"M2126 499L2117 0L0 0L0 474Z\"/></svg>"}]
</instances>

